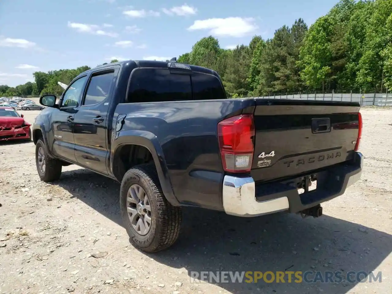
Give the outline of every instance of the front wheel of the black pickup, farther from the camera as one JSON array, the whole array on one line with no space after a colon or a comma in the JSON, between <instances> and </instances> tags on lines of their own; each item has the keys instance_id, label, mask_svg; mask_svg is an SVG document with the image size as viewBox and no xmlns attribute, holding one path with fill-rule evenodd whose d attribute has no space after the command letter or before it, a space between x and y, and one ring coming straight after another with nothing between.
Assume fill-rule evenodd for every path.
<instances>
[{"instance_id":1,"label":"front wheel of the black pickup, farther from the camera","mask_svg":"<svg viewBox=\"0 0 392 294\"><path fill-rule=\"evenodd\" d=\"M62 164L59 160L49 157L41 139L38 139L35 145L35 163L41 181L51 182L60 178Z\"/></svg>"}]
</instances>

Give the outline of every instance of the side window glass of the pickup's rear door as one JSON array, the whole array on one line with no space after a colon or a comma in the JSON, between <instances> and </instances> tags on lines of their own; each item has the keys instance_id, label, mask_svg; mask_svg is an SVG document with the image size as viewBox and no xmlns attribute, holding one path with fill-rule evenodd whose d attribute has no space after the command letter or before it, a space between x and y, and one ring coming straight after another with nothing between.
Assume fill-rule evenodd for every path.
<instances>
[{"instance_id":1,"label":"side window glass of the pickup's rear door","mask_svg":"<svg viewBox=\"0 0 392 294\"><path fill-rule=\"evenodd\" d=\"M114 71L92 76L87 86L87 93L83 105L94 105L105 100L109 96L113 77Z\"/></svg>"}]
</instances>

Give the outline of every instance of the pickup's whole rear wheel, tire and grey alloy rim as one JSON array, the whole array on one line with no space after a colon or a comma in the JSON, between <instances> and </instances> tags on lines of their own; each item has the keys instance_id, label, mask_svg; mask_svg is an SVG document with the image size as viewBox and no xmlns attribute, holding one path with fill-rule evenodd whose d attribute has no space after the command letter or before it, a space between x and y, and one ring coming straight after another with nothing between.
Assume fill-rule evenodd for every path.
<instances>
[{"instance_id":1,"label":"pickup's whole rear wheel, tire and grey alloy rim","mask_svg":"<svg viewBox=\"0 0 392 294\"><path fill-rule=\"evenodd\" d=\"M121 182L122 220L135 247L145 252L169 248L178 239L182 214L163 195L155 165L141 164Z\"/></svg>"}]
</instances>

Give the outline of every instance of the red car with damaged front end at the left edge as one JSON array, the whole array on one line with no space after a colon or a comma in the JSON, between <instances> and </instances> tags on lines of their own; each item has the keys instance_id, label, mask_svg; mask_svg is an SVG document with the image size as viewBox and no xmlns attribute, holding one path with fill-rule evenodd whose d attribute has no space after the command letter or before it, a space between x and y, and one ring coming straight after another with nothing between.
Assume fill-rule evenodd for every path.
<instances>
[{"instance_id":1,"label":"red car with damaged front end at the left edge","mask_svg":"<svg viewBox=\"0 0 392 294\"><path fill-rule=\"evenodd\" d=\"M8 140L31 140L31 124L23 114L19 115L12 107L0 107L0 142Z\"/></svg>"}]
</instances>

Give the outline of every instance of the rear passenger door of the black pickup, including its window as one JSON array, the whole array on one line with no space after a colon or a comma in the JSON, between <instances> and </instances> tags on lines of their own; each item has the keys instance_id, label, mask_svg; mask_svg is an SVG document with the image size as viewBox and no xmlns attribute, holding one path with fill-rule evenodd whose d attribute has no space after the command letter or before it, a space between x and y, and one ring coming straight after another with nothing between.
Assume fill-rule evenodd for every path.
<instances>
[{"instance_id":1,"label":"rear passenger door of the black pickup, including its window","mask_svg":"<svg viewBox=\"0 0 392 294\"><path fill-rule=\"evenodd\" d=\"M91 74L85 96L74 118L75 157L89 169L108 174L107 113L111 103L118 66Z\"/></svg>"}]
</instances>

